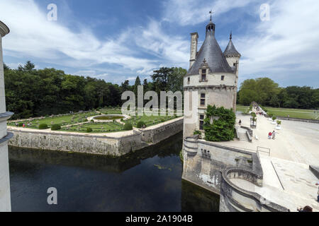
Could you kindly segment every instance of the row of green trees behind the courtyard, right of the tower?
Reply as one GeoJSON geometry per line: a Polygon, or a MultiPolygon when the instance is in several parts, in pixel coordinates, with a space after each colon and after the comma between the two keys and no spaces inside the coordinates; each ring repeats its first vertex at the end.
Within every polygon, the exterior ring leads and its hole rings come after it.
{"type": "Polygon", "coordinates": [[[250,105],[253,101],[268,107],[318,109],[319,88],[296,85],[281,88],[270,78],[247,79],[240,85],[237,103],[250,105]]]}

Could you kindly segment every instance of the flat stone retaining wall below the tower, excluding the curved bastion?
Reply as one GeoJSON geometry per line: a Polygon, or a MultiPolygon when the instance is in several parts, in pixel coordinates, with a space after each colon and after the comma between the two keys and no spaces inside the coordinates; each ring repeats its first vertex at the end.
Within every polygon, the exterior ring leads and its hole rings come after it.
{"type": "MultiPolygon", "coordinates": [[[[256,153],[186,138],[183,146],[182,178],[220,194],[221,172],[228,167],[252,169],[253,165],[260,165],[254,155],[256,153]]],[[[262,170],[261,167],[256,169],[262,170]]]]}

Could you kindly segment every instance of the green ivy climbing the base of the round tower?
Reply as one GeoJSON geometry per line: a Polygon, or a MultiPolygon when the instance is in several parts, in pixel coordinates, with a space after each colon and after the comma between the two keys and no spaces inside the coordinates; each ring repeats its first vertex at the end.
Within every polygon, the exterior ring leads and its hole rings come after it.
{"type": "Polygon", "coordinates": [[[235,113],[233,109],[208,105],[203,129],[206,141],[231,141],[235,138],[235,113]],[[211,123],[211,119],[213,119],[211,123]]]}

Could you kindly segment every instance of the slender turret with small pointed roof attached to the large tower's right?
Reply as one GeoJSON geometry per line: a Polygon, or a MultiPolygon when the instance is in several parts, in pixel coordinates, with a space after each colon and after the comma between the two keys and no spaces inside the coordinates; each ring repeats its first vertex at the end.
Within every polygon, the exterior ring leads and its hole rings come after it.
{"type": "Polygon", "coordinates": [[[228,61],[228,64],[233,67],[233,69],[235,69],[236,71],[236,89],[234,91],[234,95],[235,95],[235,102],[233,102],[233,109],[236,110],[236,99],[237,99],[237,87],[238,87],[238,69],[239,69],[239,60],[240,60],[240,53],[237,52],[233,41],[232,41],[232,32],[230,32],[230,37],[229,37],[229,42],[228,45],[224,51],[224,55],[228,61]]]}

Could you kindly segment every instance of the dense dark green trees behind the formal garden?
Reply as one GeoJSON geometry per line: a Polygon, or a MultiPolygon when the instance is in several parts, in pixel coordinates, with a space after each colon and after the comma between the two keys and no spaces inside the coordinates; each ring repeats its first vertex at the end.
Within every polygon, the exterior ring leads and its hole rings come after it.
{"type": "Polygon", "coordinates": [[[121,94],[126,90],[137,94],[138,85],[148,90],[182,90],[182,78],[186,74],[181,68],[160,68],[154,71],[152,81],[139,76],[134,85],[126,80],[121,85],[89,76],[74,76],[57,69],[35,69],[27,61],[18,69],[4,64],[6,109],[14,112],[12,119],[25,119],[50,114],[64,114],[101,107],[120,107],[125,100],[121,94]]]}

